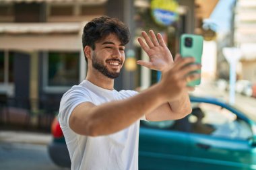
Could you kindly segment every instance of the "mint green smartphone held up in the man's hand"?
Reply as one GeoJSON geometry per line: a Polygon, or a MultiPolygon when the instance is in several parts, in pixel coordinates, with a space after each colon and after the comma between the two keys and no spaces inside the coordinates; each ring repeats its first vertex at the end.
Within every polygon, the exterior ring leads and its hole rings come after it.
{"type": "MultiPolygon", "coordinates": [[[[181,57],[192,56],[195,58],[195,63],[201,64],[201,56],[203,53],[203,37],[195,34],[182,34],[180,40],[180,53],[181,57]]],[[[195,72],[201,74],[201,70],[195,72]]],[[[189,83],[187,83],[187,85],[195,87],[200,83],[201,79],[197,79],[195,81],[190,81],[189,83]]]]}

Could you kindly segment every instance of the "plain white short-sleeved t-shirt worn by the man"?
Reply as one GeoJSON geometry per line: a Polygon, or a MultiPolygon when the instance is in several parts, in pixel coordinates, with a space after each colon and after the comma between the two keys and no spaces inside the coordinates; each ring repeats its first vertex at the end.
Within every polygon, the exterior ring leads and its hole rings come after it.
{"type": "MultiPolygon", "coordinates": [[[[63,95],[59,122],[69,150],[72,170],[138,169],[139,120],[124,130],[106,136],[83,136],[69,128],[69,116],[79,103],[90,101],[100,105],[136,93],[102,89],[85,80],[63,95]]],[[[145,120],[145,116],[142,119],[145,120]]]]}

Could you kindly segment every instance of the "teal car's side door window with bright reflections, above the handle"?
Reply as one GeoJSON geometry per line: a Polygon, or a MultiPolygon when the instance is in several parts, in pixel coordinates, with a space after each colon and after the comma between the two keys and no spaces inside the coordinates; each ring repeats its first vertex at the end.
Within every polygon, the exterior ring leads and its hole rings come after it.
{"type": "Polygon", "coordinates": [[[189,115],[191,132],[247,140],[253,136],[245,120],[220,105],[198,103],[189,115]]]}

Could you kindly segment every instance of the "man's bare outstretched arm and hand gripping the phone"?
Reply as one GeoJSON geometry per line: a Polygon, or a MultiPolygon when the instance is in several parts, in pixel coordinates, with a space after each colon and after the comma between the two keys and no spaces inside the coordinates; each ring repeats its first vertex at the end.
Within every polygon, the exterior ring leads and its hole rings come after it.
{"type": "Polygon", "coordinates": [[[194,58],[183,58],[166,71],[160,83],[128,99],[112,101],[102,105],[81,103],[69,118],[70,128],[87,136],[112,134],[127,128],[143,115],[148,115],[163,103],[177,101],[187,90],[185,75],[197,70],[194,58]]]}

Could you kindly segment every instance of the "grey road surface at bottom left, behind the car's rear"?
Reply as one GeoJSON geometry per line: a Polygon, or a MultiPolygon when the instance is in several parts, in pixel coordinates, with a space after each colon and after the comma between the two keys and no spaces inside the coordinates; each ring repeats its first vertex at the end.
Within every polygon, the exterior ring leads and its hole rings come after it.
{"type": "Polygon", "coordinates": [[[46,145],[0,142],[0,169],[61,170],[49,158],[46,145]]]}

